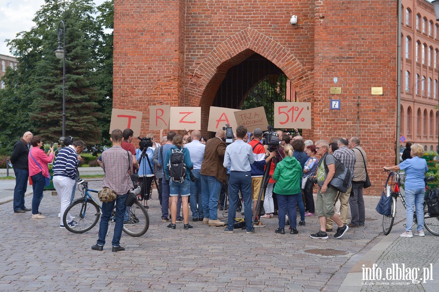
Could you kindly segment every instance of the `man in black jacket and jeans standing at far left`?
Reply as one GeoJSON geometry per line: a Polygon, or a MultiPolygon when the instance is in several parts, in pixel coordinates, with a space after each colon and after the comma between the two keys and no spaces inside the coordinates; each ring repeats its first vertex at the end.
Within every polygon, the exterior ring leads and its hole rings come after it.
{"type": "Polygon", "coordinates": [[[14,213],[24,213],[32,209],[24,207],[24,193],[27,190],[29,179],[29,141],[34,135],[31,132],[24,133],[23,137],[14,145],[14,151],[9,158],[15,173],[14,189],[14,213]]]}

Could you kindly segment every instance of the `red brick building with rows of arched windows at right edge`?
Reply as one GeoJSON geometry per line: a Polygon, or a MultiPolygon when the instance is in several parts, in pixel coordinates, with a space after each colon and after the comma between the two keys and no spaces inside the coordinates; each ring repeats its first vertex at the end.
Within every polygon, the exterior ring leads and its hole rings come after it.
{"type": "Polygon", "coordinates": [[[401,127],[407,141],[438,150],[439,23],[426,0],[402,0],[401,127]]]}

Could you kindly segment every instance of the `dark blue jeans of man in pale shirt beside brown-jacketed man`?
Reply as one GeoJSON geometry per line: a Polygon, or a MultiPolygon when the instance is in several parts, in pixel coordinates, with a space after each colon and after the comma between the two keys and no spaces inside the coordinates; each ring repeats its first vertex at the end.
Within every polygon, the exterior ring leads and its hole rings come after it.
{"type": "MultiPolygon", "coordinates": [[[[250,172],[231,172],[229,177],[229,214],[227,216],[227,229],[233,230],[235,227],[236,204],[239,198],[239,190],[241,191],[244,201],[244,220],[245,229],[252,230],[252,176],[250,172]]],[[[285,218],[285,216],[284,216],[285,218]]]]}

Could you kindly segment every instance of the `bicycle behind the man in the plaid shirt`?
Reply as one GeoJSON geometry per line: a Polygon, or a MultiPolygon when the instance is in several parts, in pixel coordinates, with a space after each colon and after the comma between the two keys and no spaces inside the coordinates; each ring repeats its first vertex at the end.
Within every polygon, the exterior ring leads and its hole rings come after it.
{"type": "MultiPolygon", "coordinates": [[[[62,217],[65,228],[72,233],[84,233],[89,231],[98,223],[100,215],[102,214],[100,203],[89,193],[99,193],[99,191],[89,189],[88,182],[82,179],[78,182],[78,189],[80,190],[81,198],[74,200],[72,204],[67,207],[62,217]],[[69,212],[72,216],[76,217],[75,221],[77,224],[75,226],[69,226],[67,224],[67,214],[69,212]]],[[[113,209],[108,231],[115,220],[116,210],[113,209]]],[[[125,212],[122,230],[130,236],[139,237],[145,234],[148,228],[148,212],[139,201],[135,201],[134,205],[127,208],[125,212]]]]}

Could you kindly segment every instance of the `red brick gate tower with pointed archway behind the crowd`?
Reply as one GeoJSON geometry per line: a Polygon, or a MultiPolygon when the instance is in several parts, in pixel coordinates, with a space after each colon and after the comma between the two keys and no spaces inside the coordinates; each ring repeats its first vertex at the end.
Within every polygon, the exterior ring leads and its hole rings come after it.
{"type": "Polygon", "coordinates": [[[205,131],[227,70],[258,53],[285,73],[299,101],[313,104],[313,128],[304,136],[359,136],[380,186],[379,169],[394,163],[396,1],[115,0],[114,6],[113,106],[142,110],[142,134],[155,104],[201,106],[205,131]],[[341,94],[330,87],[341,87],[341,94]],[[371,87],[383,94],[371,95],[371,87]],[[340,99],[341,110],[331,110],[330,99],[340,99]]]}

